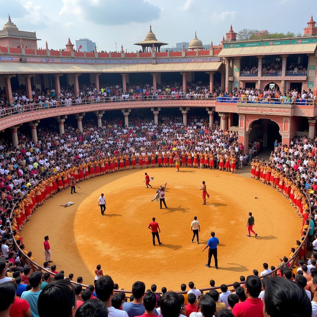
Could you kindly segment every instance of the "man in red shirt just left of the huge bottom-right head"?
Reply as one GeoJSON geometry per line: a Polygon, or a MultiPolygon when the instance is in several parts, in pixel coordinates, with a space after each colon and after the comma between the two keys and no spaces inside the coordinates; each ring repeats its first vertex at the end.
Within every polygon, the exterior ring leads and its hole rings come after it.
{"type": "Polygon", "coordinates": [[[259,298],[261,289],[261,280],[255,275],[249,275],[244,289],[247,299],[233,307],[232,313],[235,317],[263,317],[263,302],[259,298]]]}

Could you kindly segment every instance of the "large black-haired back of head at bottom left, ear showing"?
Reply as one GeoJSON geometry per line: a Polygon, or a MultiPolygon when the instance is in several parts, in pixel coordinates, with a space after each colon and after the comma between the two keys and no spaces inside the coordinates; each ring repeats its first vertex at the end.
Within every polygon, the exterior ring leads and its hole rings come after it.
{"type": "Polygon", "coordinates": [[[65,279],[46,285],[39,295],[37,308],[39,317],[74,317],[77,305],[71,282],[65,279]]]}

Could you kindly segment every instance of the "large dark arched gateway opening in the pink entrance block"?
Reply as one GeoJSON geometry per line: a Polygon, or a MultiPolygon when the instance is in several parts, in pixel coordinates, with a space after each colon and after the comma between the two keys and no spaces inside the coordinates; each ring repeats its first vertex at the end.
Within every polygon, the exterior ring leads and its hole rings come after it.
{"type": "Polygon", "coordinates": [[[274,142],[277,139],[278,142],[282,141],[280,134],[280,126],[270,119],[258,119],[253,121],[249,126],[249,143],[254,140],[259,140],[261,148],[272,149],[274,142]]]}

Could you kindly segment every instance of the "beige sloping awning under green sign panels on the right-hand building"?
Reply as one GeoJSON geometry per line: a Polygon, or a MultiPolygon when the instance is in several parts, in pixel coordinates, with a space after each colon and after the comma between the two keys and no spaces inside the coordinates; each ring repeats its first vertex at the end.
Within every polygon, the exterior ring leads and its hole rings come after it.
{"type": "Polygon", "coordinates": [[[249,55],[280,55],[280,54],[312,54],[316,50],[316,43],[265,45],[255,47],[237,47],[222,49],[218,56],[249,56],[249,55]]]}

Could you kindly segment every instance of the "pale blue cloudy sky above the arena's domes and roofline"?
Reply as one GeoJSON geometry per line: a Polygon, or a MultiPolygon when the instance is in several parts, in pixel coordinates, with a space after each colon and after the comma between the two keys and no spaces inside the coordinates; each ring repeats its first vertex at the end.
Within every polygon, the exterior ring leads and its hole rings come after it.
{"type": "MultiPolygon", "coordinates": [[[[11,20],[23,31],[36,31],[38,47],[65,48],[71,41],[90,38],[98,50],[117,50],[121,44],[136,51],[135,42],[142,41],[152,23],[159,41],[189,42],[197,37],[208,44],[219,44],[232,23],[237,32],[243,28],[270,32],[303,32],[309,14],[298,15],[298,1],[267,0],[0,0],[2,25],[11,20]],[[250,8],[251,5],[251,8],[250,8]],[[271,8],[269,10],[268,8],[271,8]]],[[[300,10],[300,9],[299,9],[300,10]]],[[[312,12],[316,15],[317,10],[312,12]]]]}

